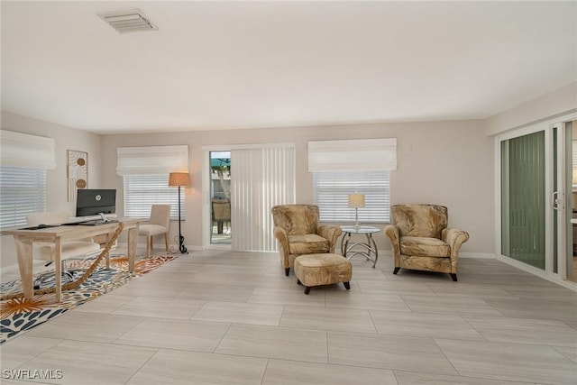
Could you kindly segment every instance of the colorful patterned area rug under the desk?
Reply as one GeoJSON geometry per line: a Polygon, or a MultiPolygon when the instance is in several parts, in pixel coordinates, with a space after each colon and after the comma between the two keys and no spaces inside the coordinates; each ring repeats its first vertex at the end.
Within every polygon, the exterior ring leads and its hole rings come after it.
{"type": "MultiPolygon", "coordinates": [[[[74,307],[87,303],[94,298],[100,297],[124,283],[137,279],[143,274],[154,270],[176,256],[151,256],[149,258],[137,258],[134,261],[134,272],[128,272],[128,257],[111,257],[110,269],[105,268],[105,261],[88,277],[77,289],[62,291],[61,302],[54,302],[54,294],[36,295],[31,299],[13,298],[0,301],[0,344],[4,344],[10,338],[43,324],[52,318],[61,316],[74,307]]],[[[94,260],[77,261],[68,264],[68,270],[74,275],[73,280],[78,280],[84,270],[87,270],[94,260]]],[[[53,286],[53,282],[47,280],[44,285],[53,286]]],[[[64,283],[64,282],[63,282],[64,283]]],[[[41,289],[43,287],[41,286],[41,289]]],[[[14,280],[0,284],[0,297],[9,296],[22,292],[22,281],[14,280]]]]}

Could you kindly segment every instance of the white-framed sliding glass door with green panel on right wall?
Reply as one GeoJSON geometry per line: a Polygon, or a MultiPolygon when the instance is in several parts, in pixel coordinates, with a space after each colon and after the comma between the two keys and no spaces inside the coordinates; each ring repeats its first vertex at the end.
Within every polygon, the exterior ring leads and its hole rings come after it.
{"type": "Polygon", "coordinates": [[[498,147],[500,256],[562,279],[571,219],[567,129],[563,123],[527,128],[499,138],[498,147]]]}

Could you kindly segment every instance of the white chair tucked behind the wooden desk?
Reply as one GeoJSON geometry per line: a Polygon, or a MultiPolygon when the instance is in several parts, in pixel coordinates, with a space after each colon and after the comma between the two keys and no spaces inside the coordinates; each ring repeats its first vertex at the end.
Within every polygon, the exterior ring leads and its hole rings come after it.
{"type": "MultiPolygon", "coordinates": [[[[44,213],[33,213],[26,215],[26,222],[30,226],[37,225],[61,225],[67,223],[70,216],[66,212],[52,211],[44,213]]],[[[54,243],[32,243],[32,258],[49,261],[46,264],[48,266],[54,261],[54,243]]],[[[92,238],[87,238],[78,241],[65,241],[61,244],[60,261],[62,263],[62,275],[68,277],[69,280],[73,279],[73,276],[69,271],[66,270],[66,261],[70,259],[86,259],[88,257],[96,255],[100,252],[100,244],[92,240],[92,238]]],[[[44,281],[46,277],[41,277],[39,280],[44,281]]]]}

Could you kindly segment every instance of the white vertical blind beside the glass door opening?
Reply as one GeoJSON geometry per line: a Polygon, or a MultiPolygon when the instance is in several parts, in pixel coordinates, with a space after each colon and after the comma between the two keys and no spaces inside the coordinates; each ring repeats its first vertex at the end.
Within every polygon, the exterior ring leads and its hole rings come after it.
{"type": "Polygon", "coordinates": [[[270,209],[295,203],[293,145],[231,151],[231,220],[235,251],[277,250],[270,209]]]}

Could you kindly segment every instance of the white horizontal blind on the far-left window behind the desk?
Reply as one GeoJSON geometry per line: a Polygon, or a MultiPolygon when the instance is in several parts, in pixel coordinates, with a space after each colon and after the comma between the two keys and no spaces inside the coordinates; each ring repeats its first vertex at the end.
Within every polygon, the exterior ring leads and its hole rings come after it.
{"type": "Polygon", "coordinates": [[[0,227],[26,225],[26,215],[46,211],[46,170],[0,167],[0,227]]]}

